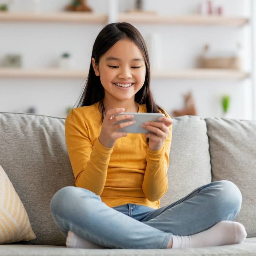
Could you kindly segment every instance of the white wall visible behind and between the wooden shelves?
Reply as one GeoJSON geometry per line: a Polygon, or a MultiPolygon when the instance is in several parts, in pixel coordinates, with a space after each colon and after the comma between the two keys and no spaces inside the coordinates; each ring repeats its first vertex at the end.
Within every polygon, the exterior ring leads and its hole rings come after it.
{"type": "MultiPolygon", "coordinates": [[[[0,0],[3,2],[3,0],[0,0]]],[[[11,11],[29,11],[30,0],[14,1],[11,11]]],[[[69,0],[41,1],[43,12],[60,11],[69,0]]],[[[199,0],[144,1],[146,10],[161,14],[193,14],[199,0]]],[[[88,0],[95,12],[106,12],[108,1],[88,0]]],[[[133,7],[133,1],[119,1],[119,10],[133,7]]],[[[225,9],[227,16],[248,16],[249,0],[215,1],[225,9]]],[[[243,48],[244,69],[251,71],[250,26],[171,26],[133,24],[146,38],[157,32],[163,44],[163,69],[193,68],[203,45],[213,49],[234,48],[240,41],[243,48]]],[[[0,62],[7,53],[20,53],[23,67],[54,67],[60,54],[71,52],[75,68],[89,68],[94,39],[104,25],[79,23],[1,22],[0,62]]],[[[65,108],[78,99],[85,79],[0,79],[0,111],[25,112],[35,106],[38,114],[65,117],[65,108]]],[[[182,94],[192,90],[197,114],[201,117],[221,116],[220,97],[231,95],[230,117],[252,119],[251,79],[245,80],[182,80],[152,79],[152,90],[157,103],[169,113],[183,107],[182,94]]]]}

